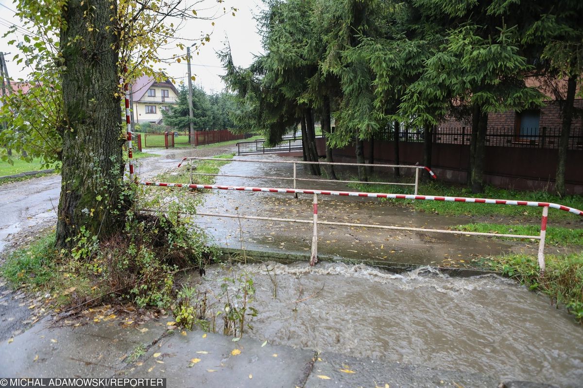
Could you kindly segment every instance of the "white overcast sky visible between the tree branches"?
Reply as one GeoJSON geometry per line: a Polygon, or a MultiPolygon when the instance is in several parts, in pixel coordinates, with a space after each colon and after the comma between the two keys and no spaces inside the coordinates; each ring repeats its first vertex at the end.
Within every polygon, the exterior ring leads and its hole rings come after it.
{"type": "MultiPolygon", "coordinates": [[[[185,0],[189,1],[189,0],[185,0]]],[[[208,0],[208,6],[215,6],[215,0],[208,0]]],[[[254,55],[261,54],[261,44],[259,42],[259,35],[257,34],[256,22],[253,18],[261,9],[261,0],[227,0],[224,2],[227,7],[234,6],[238,9],[236,16],[227,13],[226,16],[215,20],[215,27],[212,27],[209,21],[189,20],[185,26],[178,33],[178,41],[180,37],[196,37],[200,35],[201,31],[210,32],[210,42],[205,45],[200,51],[200,55],[193,53],[192,57],[192,73],[196,76],[195,84],[202,86],[207,92],[222,91],[224,84],[219,78],[223,74],[223,69],[220,66],[219,59],[215,51],[219,51],[224,47],[226,38],[231,45],[233,53],[233,60],[236,65],[248,66],[254,55]]],[[[22,69],[22,66],[16,65],[12,62],[13,55],[16,54],[16,48],[9,46],[8,41],[14,38],[22,39],[24,31],[16,35],[16,37],[2,38],[2,35],[8,30],[9,26],[16,24],[22,26],[20,20],[14,15],[15,5],[12,0],[0,0],[0,51],[10,52],[6,55],[6,65],[8,66],[8,73],[12,79],[23,78],[27,79],[27,70],[22,69]]],[[[183,41],[185,45],[192,44],[187,40],[183,41]]],[[[180,54],[180,49],[175,47],[165,49],[160,52],[163,58],[169,58],[180,54]]],[[[161,64],[160,67],[166,67],[166,73],[175,77],[177,85],[180,81],[187,80],[187,64],[185,62],[172,63],[171,65],[161,64]]]]}

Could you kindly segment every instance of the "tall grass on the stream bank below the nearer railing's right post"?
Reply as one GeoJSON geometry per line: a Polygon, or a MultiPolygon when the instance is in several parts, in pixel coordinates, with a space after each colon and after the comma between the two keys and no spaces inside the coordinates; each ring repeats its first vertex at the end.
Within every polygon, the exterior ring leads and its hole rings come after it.
{"type": "Polygon", "coordinates": [[[529,289],[548,295],[552,302],[564,305],[579,323],[583,323],[583,252],[569,255],[545,255],[544,276],[539,273],[535,256],[510,254],[487,258],[484,264],[517,279],[529,289]]]}

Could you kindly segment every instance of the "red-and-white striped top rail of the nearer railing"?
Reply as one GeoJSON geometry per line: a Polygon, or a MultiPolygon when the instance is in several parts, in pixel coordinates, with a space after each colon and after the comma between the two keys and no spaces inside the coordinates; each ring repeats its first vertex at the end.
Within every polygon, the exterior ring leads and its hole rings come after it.
{"type": "Polygon", "coordinates": [[[397,200],[426,200],[426,201],[449,201],[449,202],[476,202],[480,204],[496,205],[518,205],[532,207],[549,207],[583,216],[583,211],[570,208],[568,206],[553,204],[550,202],[496,200],[490,198],[469,198],[469,197],[439,197],[436,195],[412,195],[412,194],[383,194],[383,193],[359,193],[357,191],[326,191],[326,190],[304,190],[300,188],[273,188],[273,187],[247,187],[247,186],[216,186],[209,184],[182,184],[163,182],[140,182],[145,186],[161,187],[182,187],[182,188],[203,188],[215,190],[235,190],[235,191],[263,191],[265,193],[290,193],[290,194],[318,194],[318,195],[340,195],[348,197],[368,197],[368,198],[391,198],[397,200]]]}

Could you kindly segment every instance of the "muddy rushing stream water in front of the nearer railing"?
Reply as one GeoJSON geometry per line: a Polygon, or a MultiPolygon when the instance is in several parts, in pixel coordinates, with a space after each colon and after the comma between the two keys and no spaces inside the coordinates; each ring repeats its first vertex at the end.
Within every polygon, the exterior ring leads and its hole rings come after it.
{"type": "MultiPolygon", "coordinates": [[[[207,277],[242,271],[254,279],[252,306],[259,311],[247,335],[260,340],[501,380],[583,386],[583,328],[511,280],[448,277],[429,268],[395,275],[325,262],[315,268],[215,266],[207,277]]],[[[212,280],[199,286],[218,287],[212,280]]]]}

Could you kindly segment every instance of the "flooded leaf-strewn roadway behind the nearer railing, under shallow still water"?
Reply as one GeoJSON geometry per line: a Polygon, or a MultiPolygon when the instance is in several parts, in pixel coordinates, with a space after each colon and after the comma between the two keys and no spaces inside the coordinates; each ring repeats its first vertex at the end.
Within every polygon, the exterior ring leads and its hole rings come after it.
{"type": "MultiPolygon", "coordinates": [[[[238,156],[236,159],[290,160],[278,155],[238,156]]],[[[293,160],[293,159],[292,159],[293,160]]],[[[223,175],[293,176],[293,166],[285,163],[237,163],[224,165],[223,175]]],[[[298,165],[298,177],[311,177],[298,165]]],[[[311,177],[313,178],[313,177],[311,177]]],[[[225,186],[292,187],[293,181],[265,178],[217,177],[216,184],[225,186]]],[[[298,181],[298,188],[324,190],[351,190],[336,181],[298,181]]],[[[215,190],[205,191],[199,212],[230,215],[266,216],[287,219],[312,219],[312,196],[300,194],[258,193],[215,190]]],[[[423,193],[421,193],[423,194],[423,193]]],[[[375,198],[318,196],[318,219],[333,222],[366,223],[447,229],[465,224],[467,218],[444,217],[431,213],[415,212],[375,198]]],[[[290,252],[305,254],[310,250],[311,225],[233,218],[199,218],[215,241],[222,247],[290,252]],[[241,230],[240,230],[241,229],[241,230]]],[[[501,240],[480,239],[470,236],[401,232],[355,226],[318,226],[319,254],[358,259],[360,261],[390,261],[417,265],[459,266],[470,265],[473,258],[497,255],[512,250],[513,245],[501,240]]],[[[525,247],[524,244],[521,245],[525,247]]]]}

